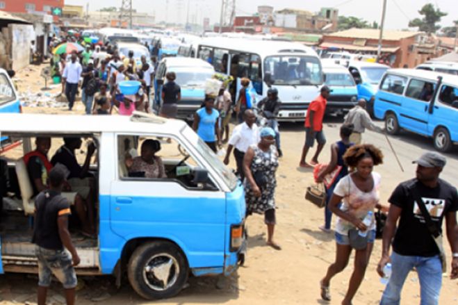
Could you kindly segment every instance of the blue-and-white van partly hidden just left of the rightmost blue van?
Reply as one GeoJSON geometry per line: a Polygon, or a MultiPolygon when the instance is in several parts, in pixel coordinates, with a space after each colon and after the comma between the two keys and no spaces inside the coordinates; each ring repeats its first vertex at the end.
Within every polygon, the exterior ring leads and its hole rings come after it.
{"type": "Polygon", "coordinates": [[[358,99],[366,99],[367,110],[373,115],[375,94],[377,93],[382,76],[390,67],[379,63],[352,60],[348,63],[348,70],[357,83],[358,99]]]}

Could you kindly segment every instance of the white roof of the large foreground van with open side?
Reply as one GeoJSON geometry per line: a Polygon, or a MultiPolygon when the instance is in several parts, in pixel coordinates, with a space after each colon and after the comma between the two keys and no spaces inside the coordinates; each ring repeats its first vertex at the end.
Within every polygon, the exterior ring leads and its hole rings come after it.
{"type": "Polygon", "coordinates": [[[179,119],[133,113],[124,115],[42,115],[0,113],[1,133],[164,133],[176,134],[186,126],[179,119]]]}

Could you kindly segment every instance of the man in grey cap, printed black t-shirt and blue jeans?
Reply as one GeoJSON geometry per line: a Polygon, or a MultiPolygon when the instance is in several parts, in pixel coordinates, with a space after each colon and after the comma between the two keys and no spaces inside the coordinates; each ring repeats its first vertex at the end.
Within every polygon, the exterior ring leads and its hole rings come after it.
{"type": "Polygon", "coordinates": [[[383,277],[384,266],[391,261],[392,273],[381,305],[400,303],[402,285],[414,267],[420,280],[421,304],[439,304],[442,286],[439,247],[427,228],[416,197],[423,199],[425,208],[439,231],[445,217],[447,237],[452,249],[450,279],[458,278],[458,194],[457,189],[450,183],[439,179],[446,163],[445,157],[436,152],[427,152],[414,163],[417,163],[416,179],[401,183],[389,199],[391,206],[384,229],[382,258],[377,266],[377,272],[383,277]],[[390,258],[392,240],[393,253],[390,258]]]}

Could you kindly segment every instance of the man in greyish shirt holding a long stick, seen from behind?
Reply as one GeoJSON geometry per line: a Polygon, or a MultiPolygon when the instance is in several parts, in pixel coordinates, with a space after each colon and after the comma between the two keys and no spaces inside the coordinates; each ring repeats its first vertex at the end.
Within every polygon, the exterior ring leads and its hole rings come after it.
{"type": "Polygon", "coordinates": [[[383,132],[379,126],[375,125],[370,115],[366,111],[366,99],[359,99],[357,106],[354,106],[345,116],[344,124],[353,124],[354,130],[350,135],[350,142],[356,145],[361,144],[362,135],[366,128],[371,131],[383,132]]]}

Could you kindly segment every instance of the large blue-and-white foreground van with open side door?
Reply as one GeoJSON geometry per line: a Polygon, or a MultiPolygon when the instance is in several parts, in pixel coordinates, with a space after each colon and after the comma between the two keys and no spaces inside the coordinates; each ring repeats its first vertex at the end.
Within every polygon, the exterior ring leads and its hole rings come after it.
{"type": "MultiPolygon", "coordinates": [[[[50,151],[65,136],[95,142],[90,173],[98,190],[97,239],[74,238],[77,274],[111,274],[118,286],[126,276],[138,295],[158,299],[177,295],[190,274],[229,275],[243,262],[243,186],[185,122],[145,113],[0,114],[0,134],[22,138],[24,154],[37,136],[51,138],[50,151]],[[129,171],[128,161],[140,158],[145,140],[161,142],[161,178],[129,171]]],[[[3,197],[0,274],[36,273],[31,180],[24,158],[2,156],[11,174],[3,197]]]]}

